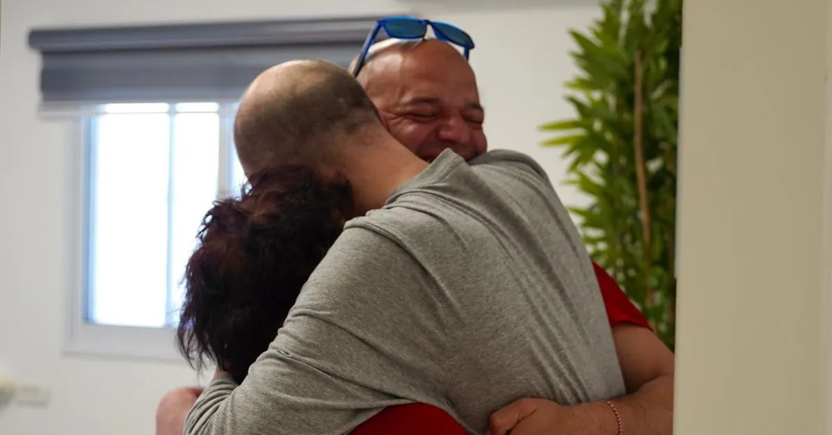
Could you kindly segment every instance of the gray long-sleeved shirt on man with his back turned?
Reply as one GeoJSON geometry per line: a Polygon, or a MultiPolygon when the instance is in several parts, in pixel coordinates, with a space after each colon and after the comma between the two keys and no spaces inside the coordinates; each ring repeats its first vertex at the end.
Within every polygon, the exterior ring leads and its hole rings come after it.
{"type": "Polygon", "coordinates": [[[592,264],[540,166],[445,151],[349,221],[245,381],[211,383],[186,433],[336,435],[411,402],[483,433],[517,398],[624,392],[592,264]]]}

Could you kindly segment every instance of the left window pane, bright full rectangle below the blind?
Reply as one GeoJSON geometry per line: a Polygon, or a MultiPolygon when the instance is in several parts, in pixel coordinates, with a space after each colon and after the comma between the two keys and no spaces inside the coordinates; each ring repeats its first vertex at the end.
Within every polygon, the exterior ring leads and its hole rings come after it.
{"type": "Polygon", "coordinates": [[[91,137],[87,314],[97,324],[156,327],[167,299],[169,117],[117,106],[91,137]]]}

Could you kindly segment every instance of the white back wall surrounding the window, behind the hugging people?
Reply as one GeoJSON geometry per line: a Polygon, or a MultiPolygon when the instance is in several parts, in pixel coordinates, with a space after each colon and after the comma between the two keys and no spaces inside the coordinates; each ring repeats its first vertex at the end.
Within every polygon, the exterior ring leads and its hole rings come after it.
{"type": "MultiPolygon", "coordinates": [[[[544,150],[536,126],[570,114],[562,82],[574,68],[567,27],[597,15],[592,0],[3,0],[0,24],[0,371],[52,386],[47,408],[0,411],[0,433],[146,435],[156,401],[193,383],[184,364],[62,356],[72,174],[67,126],[37,117],[39,59],[32,27],[270,19],[285,16],[416,11],[473,34],[472,62],[488,109],[493,147],[535,156],[562,179],[559,151],[544,150]],[[323,12],[321,12],[323,11],[323,12]],[[11,428],[11,429],[10,429],[11,428]]],[[[563,189],[565,202],[581,198],[563,189]]],[[[141,270],[136,270],[141,273],[141,270]]]]}

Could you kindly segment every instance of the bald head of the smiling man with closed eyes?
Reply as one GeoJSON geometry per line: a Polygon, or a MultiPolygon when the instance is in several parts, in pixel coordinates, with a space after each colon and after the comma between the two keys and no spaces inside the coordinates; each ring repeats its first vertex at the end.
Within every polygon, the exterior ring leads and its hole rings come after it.
{"type": "Polygon", "coordinates": [[[364,62],[359,83],[390,134],[414,154],[433,161],[450,149],[468,160],[486,151],[477,77],[451,44],[387,39],[364,62]]]}

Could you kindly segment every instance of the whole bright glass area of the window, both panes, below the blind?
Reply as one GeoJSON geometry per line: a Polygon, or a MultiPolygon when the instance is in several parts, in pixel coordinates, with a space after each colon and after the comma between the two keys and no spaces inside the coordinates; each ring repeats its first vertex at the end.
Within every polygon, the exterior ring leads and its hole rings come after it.
{"type": "Polygon", "coordinates": [[[217,103],[110,104],[87,123],[85,320],[176,324],[202,217],[239,190],[217,103]]]}

